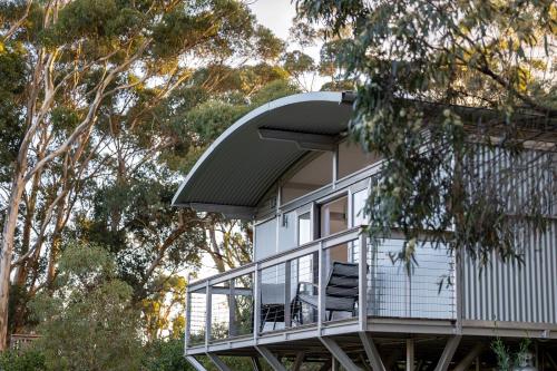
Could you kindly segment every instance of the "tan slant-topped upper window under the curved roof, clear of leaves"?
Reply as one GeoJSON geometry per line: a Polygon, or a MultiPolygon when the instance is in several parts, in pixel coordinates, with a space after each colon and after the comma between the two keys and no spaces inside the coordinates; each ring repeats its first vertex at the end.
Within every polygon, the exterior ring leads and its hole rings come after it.
{"type": "Polygon", "coordinates": [[[325,152],[305,164],[282,186],[282,203],[301,197],[332,182],[333,153],[325,152]]]}

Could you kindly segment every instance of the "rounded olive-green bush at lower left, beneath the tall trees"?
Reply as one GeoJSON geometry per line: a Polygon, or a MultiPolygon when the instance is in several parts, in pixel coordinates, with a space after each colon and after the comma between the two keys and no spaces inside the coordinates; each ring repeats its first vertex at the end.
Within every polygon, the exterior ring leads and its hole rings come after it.
{"type": "Polygon", "coordinates": [[[40,321],[36,345],[48,370],[138,369],[139,316],[130,307],[131,287],[115,275],[102,247],[66,247],[53,295],[38,295],[31,304],[40,321]]]}

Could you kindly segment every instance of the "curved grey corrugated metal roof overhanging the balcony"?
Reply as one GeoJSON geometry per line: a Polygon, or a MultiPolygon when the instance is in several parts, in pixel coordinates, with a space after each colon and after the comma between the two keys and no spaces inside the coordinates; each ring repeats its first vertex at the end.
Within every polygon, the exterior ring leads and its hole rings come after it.
{"type": "Polygon", "coordinates": [[[307,92],[252,110],[208,147],[182,183],[173,205],[228,215],[237,211],[245,216],[307,153],[304,138],[319,144],[346,130],[352,106],[342,102],[351,102],[349,94],[307,92]],[[266,135],[275,140],[262,138],[266,135]]]}

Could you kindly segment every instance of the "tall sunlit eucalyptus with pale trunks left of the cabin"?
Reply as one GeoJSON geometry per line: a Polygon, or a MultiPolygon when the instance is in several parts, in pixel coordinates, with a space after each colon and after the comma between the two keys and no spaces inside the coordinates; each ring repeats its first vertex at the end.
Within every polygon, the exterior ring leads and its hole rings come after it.
{"type": "MultiPolygon", "coordinates": [[[[134,184],[135,199],[144,201],[149,179],[168,173],[139,170],[139,165],[163,149],[168,154],[187,147],[176,131],[164,123],[158,126],[157,107],[193,79],[199,66],[262,55],[270,60],[280,48],[246,6],[234,0],[0,4],[0,349],[7,340],[12,269],[31,291],[51,286],[66,227],[76,231],[81,222],[88,224],[71,211],[76,205],[82,211],[97,195],[96,187],[107,187],[108,182],[99,180],[113,176],[107,169],[136,169],[136,179],[146,175],[143,184],[134,184]],[[149,127],[174,136],[152,135],[149,127]],[[125,153],[131,143],[139,154],[125,153]]],[[[124,178],[116,172],[116,183],[118,177],[124,178]]],[[[168,198],[168,184],[158,189],[168,198]]],[[[117,214],[110,215],[114,230],[121,222],[117,214]]],[[[185,227],[178,222],[179,228],[185,227]]],[[[167,231],[159,247],[176,237],[176,231],[167,231]]],[[[155,266],[158,253],[148,256],[155,266]]]]}

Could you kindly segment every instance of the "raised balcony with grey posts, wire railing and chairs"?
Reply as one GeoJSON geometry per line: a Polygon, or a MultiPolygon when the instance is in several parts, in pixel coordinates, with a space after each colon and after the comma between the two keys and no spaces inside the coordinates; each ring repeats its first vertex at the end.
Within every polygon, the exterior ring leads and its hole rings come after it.
{"type": "Polygon", "coordinates": [[[188,286],[186,353],[367,331],[378,320],[452,323],[455,256],[419,244],[409,275],[403,238],[379,246],[346,230],[188,286]],[[360,248],[365,246],[365,248],[360,248]]]}

